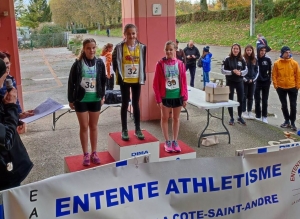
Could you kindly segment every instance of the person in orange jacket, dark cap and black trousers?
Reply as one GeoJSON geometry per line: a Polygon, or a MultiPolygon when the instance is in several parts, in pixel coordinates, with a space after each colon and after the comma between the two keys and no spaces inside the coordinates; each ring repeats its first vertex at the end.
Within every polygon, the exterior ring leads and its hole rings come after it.
{"type": "Polygon", "coordinates": [[[298,63],[292,58],[291,49],[288,46],[281,48],[281,55],[274,62],[272,80],[281,102],[281,110],[284,117],[284,123],[280,127],[291,128],[293,131],[297,131],[295,121],[298,89],[300,88],[300,68],[298,63]],[[289,96],[290,112],[287,106],[287,95],[289,96]]]}

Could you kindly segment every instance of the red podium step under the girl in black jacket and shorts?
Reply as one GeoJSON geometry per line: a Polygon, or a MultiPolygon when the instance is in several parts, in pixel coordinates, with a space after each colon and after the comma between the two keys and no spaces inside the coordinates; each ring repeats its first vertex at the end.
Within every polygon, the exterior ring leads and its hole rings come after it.
{"type": "Polygon", "coordinates": [[[65,157],[64,158],[65,173],[72,173],[80,170],[86,170],[89,168],[98,167],[98,166],[115,162],[115,159],[110,155],[108,151],[98,152],[97,154],[100,158],[101,163],[99,165],[96,165],[91,162],[90,166],[82,165],[83,154],[65,157]]]}

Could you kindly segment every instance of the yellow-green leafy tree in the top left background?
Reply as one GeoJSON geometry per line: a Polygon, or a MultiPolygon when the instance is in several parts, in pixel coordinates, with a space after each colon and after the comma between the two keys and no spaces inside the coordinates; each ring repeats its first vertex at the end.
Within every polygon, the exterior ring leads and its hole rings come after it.
{"type": "Polygon", "coordinates": [[[27,10],[20,17],[23,26],[36,28],[42,22],[51,21],[51,11],[47,0],[30,0],[27,10]]]}

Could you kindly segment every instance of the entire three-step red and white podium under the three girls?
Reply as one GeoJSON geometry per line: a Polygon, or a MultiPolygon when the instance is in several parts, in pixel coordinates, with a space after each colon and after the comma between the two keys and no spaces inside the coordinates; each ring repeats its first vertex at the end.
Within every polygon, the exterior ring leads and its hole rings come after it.
{"type": "Polygon", "coordinates": [[[68,156],[64,158],[65,173],[94,168],[140,155],[149,155],[149,162],[196,158],[196,151],[183,141],[178,141],[181,147],[180,153],[167,153],[164,149],[164,143],[160,143],[159,140],[148,131],[143,130],[142,132],[145,136],[144,140],[138,139],[134,135],[134,130],[128,131],[129,141],[123,141],[121,139],[121,132],[109,133],[108,150],[97,153],[101,161],[100,165],[91,163],[90,166],[83,166],[83,154],[68,156]]]}

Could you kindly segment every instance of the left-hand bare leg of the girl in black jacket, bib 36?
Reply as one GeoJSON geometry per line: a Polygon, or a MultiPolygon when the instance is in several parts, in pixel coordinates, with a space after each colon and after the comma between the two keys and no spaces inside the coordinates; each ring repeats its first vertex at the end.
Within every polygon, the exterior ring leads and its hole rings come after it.
{"type": "Polygon", "coordinates": [[[82,151],[84,154],[88,153],[88,112],[76,112],[79,121],[79,137],[82,151]]]}

